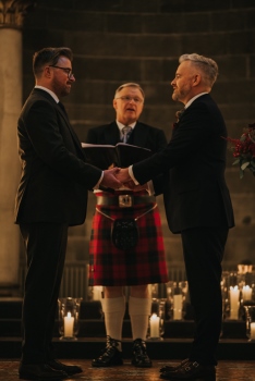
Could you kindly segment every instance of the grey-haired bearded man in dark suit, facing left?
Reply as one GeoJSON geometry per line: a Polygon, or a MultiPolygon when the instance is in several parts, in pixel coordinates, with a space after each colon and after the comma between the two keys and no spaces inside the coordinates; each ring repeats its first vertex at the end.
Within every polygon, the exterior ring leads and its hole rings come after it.
{"type": "Polygon", "coordinates": [[[117,176],[136,184],[155,179],[156,194],[163,193],[169,229],[182,238],[195,336],[189,358],[175,368],[162,368],[160,377],[215,380],[222,318],[221,260],[234,225],[224,181],[227,130],[209,95],[218,75],[216,62],[196,53],[183,54],[179,62],[172,98],[185,108],[172,138],[166,149],[117,176]]]}

